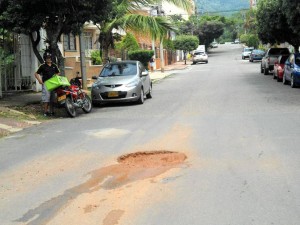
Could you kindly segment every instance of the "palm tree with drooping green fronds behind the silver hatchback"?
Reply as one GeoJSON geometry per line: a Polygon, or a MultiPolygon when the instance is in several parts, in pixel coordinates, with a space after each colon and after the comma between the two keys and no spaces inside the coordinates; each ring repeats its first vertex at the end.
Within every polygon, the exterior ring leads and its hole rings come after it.
{"type": "MultiPolygon", "coordinates": [[[[165,0],[181,7],[185,10],[191,9],[190,0],[165,0]]],[[[141,14],[141,10],[151,5],[161,4],[161,0],[114,0],[114,12],[106,21],[100,21],[100,45],[103,51],[103,62],[106,63],[109,55],[109,48],[114,47],[116,35],[113,29],[132,30],[149,34],[154,40],[162,39],[169,30],[175,30],[175,26],[162,16],[151,17],[150,15],[141,14]]]]}

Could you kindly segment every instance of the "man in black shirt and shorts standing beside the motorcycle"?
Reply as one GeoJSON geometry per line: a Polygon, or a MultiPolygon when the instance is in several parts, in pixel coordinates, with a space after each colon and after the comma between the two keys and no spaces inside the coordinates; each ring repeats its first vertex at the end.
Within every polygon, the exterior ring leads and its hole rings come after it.
{"type": "Polygon", "coordinates": [[[44,105],[44,116],[53,115],[54,92],[48,91],[45,81],[50,79],[54,74],[59,75],[59,69],[56,64],[52,63],[52,55],[49,52],[44,53],[45,63],[40,65],[34,76],[42,84],[42,102],[44,105]]]}

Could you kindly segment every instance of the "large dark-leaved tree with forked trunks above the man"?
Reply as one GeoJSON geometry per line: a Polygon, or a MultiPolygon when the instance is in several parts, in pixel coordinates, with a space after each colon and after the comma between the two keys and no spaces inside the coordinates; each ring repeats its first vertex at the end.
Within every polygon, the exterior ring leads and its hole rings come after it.
{"type": "Polygon", "coordinates": [[[79,34],[87,21],[103,20],[111,11],[110,0],[2,0],[0,2],[0,25],[9,31],[30,36],[33,51],[42,63],[37,50],[40,30],[47,32],[46,43],[56,55],[58,66],[64,71],[63,56],[57,42],[62,34],[79,34]]]}

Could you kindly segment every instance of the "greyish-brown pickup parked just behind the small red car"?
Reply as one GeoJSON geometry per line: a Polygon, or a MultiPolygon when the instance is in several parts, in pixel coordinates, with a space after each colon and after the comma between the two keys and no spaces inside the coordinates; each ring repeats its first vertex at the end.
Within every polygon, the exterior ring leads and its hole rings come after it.
{"type": "Polygon", "coordinates": [[[261,60],[260,72],[268,75],[270,71],[274,70],[274,63],[280,55],[289,55],[288,48],[269,48],[265,56],[261,60]]]}

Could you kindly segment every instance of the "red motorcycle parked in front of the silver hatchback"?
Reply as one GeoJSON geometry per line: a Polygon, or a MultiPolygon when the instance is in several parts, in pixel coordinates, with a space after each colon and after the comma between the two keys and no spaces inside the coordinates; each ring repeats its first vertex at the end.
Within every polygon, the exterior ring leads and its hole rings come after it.
{"type": "Polygon", "coordinates": [[[60,86],[55,89],[57,95],[57,103],[64,106],[70,117],[76,117],[77,108],[82,108],[85,113],[89,113],[92,110],[92,102],[90,97],[81,89],[81,85],[70,81],[70,86],[60,86]]]}

